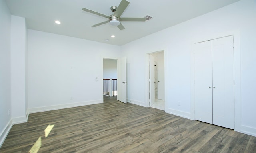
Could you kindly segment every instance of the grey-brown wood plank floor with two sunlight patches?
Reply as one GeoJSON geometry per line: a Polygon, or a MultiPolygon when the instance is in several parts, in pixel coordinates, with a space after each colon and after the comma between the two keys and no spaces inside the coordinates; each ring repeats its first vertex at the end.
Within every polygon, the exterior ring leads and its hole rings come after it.
{"type": "Polygon", "coordinates": [[[0,153],[256,153],[256,137],[104,97],[29,115],[0,153]]]}

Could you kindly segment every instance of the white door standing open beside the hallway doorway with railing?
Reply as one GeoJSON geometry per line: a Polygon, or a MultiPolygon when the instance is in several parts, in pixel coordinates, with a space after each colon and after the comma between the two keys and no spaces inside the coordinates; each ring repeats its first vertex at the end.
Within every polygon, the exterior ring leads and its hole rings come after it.
{"type": "Polygon", "coordinates": [[[117,100],[126,103],[126,57],[117,60],[117,100]]]}

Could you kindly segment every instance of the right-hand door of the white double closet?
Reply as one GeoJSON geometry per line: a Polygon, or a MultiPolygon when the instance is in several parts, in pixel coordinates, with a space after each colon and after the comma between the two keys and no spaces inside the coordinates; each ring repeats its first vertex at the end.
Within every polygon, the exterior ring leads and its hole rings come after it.
{"type": "Polygon", "coordinates": [[[234,129],[233,36],[212,40],[213,124],[234,129]]]}

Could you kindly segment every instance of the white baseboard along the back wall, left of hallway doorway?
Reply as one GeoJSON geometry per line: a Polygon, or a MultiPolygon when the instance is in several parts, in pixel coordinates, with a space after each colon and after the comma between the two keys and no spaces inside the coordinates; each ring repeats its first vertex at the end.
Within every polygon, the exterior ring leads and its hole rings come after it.
{"type": "Polygon", "coordinates": [[[37,108],[29,108],[29,113],[37,113],[37,112],[44,112],[49,110],[59,110],[63,108],[71,108],[71,107],[78,107],[78,106],[85,106],[85,105],[92,105],[92,104],[100,104],[103,100],[91,100],[85,102],[76,102],[70,104],[61,104],[61,105],[52,105],[52,106],[45,106],[45,107],[37,107],[37,108]]]}

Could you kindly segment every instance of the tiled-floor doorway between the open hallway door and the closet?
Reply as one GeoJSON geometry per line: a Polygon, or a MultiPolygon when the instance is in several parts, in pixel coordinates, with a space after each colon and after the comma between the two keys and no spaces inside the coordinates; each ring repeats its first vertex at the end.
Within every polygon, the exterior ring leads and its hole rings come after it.
{"type": "Polygon", "coordinates": [[[164,51],[149,54],[149,106],[165,110],[164,51]]]}

